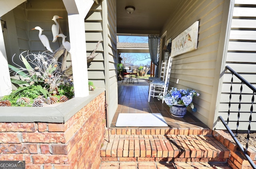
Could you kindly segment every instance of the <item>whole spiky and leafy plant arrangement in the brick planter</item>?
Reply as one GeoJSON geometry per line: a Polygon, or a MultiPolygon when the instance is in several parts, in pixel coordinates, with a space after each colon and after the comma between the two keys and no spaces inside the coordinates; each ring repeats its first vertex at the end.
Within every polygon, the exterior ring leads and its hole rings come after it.
{"type": "MultiPolygon", "coordinates": [[[[26,52],[26,51],[25,51],[26,52]]],[[[27,54],[19,55],[19,59],[24,64],[24,67],[16,64],[9,65],[9,68],[15,79],[11,79],[11,82],[17,84],[17,90],[13,90],[8,96],[4,96],[2,100],[9,100],[12,106],[30,106],[22,105],[17,100],[20,97],[26,97],[33,102],[34,98],[39,95],[43,95],[44,98],[48,96],[60,96],[65,95],[69,99],[74,96],[74,85],[72,82],[72,76],[64,75],[60,72],[61,64],[54,59],[52,55],[48,55],[43,52],[42,54],[27,54]],[[18,79],[17,79],[18,77],[18,79]]],[[[14,60],[14,57],[12,58],[14,60]]]]}

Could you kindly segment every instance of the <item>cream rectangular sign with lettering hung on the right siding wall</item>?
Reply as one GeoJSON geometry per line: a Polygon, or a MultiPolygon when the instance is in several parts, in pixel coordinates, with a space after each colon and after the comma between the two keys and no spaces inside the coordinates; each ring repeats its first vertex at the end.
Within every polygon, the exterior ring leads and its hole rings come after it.
{"type": "Polygon", "coordinates": [[[199,21],[172,40],[171,57],[197,49],[199,21]]]}

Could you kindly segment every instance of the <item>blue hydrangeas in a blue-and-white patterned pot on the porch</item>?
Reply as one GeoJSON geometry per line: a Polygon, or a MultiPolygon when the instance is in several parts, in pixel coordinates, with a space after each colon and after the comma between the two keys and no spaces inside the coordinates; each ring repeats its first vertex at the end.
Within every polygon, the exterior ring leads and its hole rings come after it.
{"type": "Polygon", "coordinates": [[[170,107],[170,113],[173,116],[183,117],[188,106],[192,108],[193,112],[196,112],[196,108],[192,103],[194,96],[199,96],[196,90],[172,87],[166,95],[158,95],[158,100],[164,99],[164,102],[170,107]]]}

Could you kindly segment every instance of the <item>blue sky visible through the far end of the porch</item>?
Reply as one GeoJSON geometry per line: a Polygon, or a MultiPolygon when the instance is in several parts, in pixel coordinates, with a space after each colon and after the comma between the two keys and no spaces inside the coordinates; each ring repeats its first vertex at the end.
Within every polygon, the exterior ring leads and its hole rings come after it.
{"type": "MultiPolygon", "coordinates": [[[[118,36],[119,42],[126,43],[148,43],[147,36],[118,36]]],[[[126,63],[133,63],[134,65],[144,66],[150,65],[149,53],[121,53],[121,57],[126,59],[126,63]]],[[[122,62],[123,62],[122,61],[122,62]]]]}

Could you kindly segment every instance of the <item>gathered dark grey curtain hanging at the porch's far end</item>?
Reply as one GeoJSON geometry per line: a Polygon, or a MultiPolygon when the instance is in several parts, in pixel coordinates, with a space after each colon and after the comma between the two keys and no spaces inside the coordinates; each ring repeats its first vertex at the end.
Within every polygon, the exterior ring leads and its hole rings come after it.
{"type": "Polygon", "coordinates": [[[156,73],[155,77],[158,77],[158,43],[159,43],[159,35],[148,35],[148,47],[150,59],[156,65],[156,73]]]}

